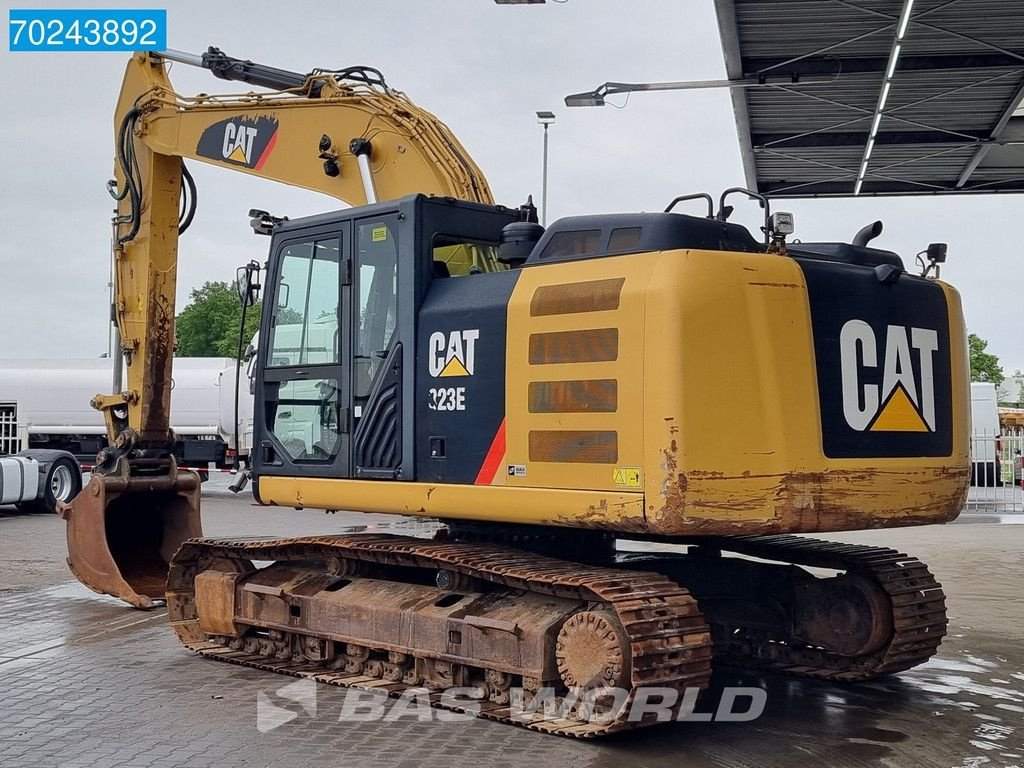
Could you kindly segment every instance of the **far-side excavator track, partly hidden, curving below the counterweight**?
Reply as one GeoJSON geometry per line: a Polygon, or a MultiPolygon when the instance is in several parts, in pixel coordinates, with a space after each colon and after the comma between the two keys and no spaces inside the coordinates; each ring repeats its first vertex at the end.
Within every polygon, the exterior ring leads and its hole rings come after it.
{"type": "Polygon", "coordinates": [[[946,634],[941,585],[923,562],[897,550],[796,536],[701,539],[700,544],[765,560],[858,574],[877,585],[891,606],[888,642],[862,656],[844,656],[820,647],[780,641],[770,632],[715,624],[712,620],[716,664],[855,682],[923,664],[935,653],[946,634]]]}

